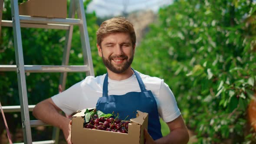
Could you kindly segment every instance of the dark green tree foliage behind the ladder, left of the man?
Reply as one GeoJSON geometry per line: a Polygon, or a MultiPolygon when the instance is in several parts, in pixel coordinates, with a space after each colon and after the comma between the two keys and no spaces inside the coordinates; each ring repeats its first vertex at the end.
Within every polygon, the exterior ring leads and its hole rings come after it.
{"type": "MultiPolygon", "coordinates": [[[[19,3],[23,0],[19,0],[19,3]]],[[[84,9],[91,0],[84,0],[84,9]]],[[[68,0],[67,8],[69,10],[68,0]]],[[[92,52],[95,75],[105,73],[102,59],[98,57],[96,48],[96,14],[86,13],[86,22],[92,52]]],[[[4,0],[3,20],[11,20],[10,0],[4,0]]],[[[21,28],[23,55],[25,65],[61,65],[66,30],[21,28]]],[[[2,27],[0,37],[0,65],[15,65],[12,27],[2,27]]],[[[69,65],[83,65],[79,27],[74,26],[72,36],[69,65]]],[[[26,84],[29,105],[36,105],[39,101],[58,93],[60,73],[29,73],[26,72],[26,84]]],[[[85,78],[84,72],[68,73],[66,88],[85,78]]],[[[0,101],[3,106],[20,105],[16,72],[0,72],[0,101]]],[[[14,133],[20,127],[20,113],[6,113],[11,115],[14,125],[9,124],[14,133]],[[18,115],[18,118],[16,118],[18,115]]],[[[33,116],[30,115],[33,119],[33,116]]],[[[11,120],[10,120],[11,121],[11,120]]],[[[36,133],[33,133],[36,135],[36,133]]],[[[46,133],[47,134],[47,133],[46,133]]],[[[51,134],[47,134],[51,137],[51,134]]],[[[43,137],[42,135],[40,135],[43,137]]],[[[15,142],[15,141],[14,141],[15,142]]]]}

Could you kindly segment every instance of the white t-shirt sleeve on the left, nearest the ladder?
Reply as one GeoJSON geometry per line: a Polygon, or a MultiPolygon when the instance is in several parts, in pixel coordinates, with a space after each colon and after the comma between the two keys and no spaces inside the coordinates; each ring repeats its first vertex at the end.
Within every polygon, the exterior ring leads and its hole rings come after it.
{"type": "Polygon", "coordinates": [[[81,98],[81,82],[72,85],[67,90],[54,95],[52,97],[53,102],[57,105],[66,115],[71,115],[76,112],[79,105],[79,99],[81,98]]]}

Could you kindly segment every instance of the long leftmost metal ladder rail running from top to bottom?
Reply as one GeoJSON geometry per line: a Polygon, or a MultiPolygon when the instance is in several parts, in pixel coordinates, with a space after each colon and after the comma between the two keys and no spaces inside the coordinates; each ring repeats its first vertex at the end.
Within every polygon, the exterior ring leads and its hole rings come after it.
{"type": "Polygon", "coordinates": [[[23,59],[23,48],[20,31],[18,0],[11,0],[11,11],[13,20],[13,37],[15,58],[17,65],[17,77],[20,97],[21,120],[23,130],[23,141],[25,144],[32,144],[31,128],[30,128],[30,115],[28,109],[28,99],[26,91],[26,78],[23,59]]]}

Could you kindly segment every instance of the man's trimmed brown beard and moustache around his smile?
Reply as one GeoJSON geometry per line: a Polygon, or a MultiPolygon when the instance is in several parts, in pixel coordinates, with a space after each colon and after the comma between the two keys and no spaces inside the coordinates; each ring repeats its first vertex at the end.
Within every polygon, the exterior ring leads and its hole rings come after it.
{"type": "Polygon", "coordinates": [[[133,61],[133,55],[131,56],[130,59],[128,59],[128,56],[126,55],[121,55],[121,56],[109,56],[108,59],[106,59],[104,56],[103,56],[103,53],[102,53],[102,60],[104,62],[104,65],[112,72],[114,73],[123,73],[125,72],[130,66],[131,66],[131,63],[133,61]],[[115,59],[115,58],[121,58],[121,59],[124,59],[125,63],[120,65],[120,66],[115,66],[112,64],[112,59],[115,59]]]}

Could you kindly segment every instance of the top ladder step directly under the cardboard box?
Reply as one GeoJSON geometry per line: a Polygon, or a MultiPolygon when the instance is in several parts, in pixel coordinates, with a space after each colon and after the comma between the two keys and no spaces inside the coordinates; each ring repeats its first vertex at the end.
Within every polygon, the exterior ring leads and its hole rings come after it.
{"type": "Polygon", "coordinates": [[[55,24],[69,24],[79,25],[82,24],[80,19],[59,19],[59,18],[46,18],[46,17],[33,17],[33,16],[20,16],[20,23],[55,23],[55,24]]]}

